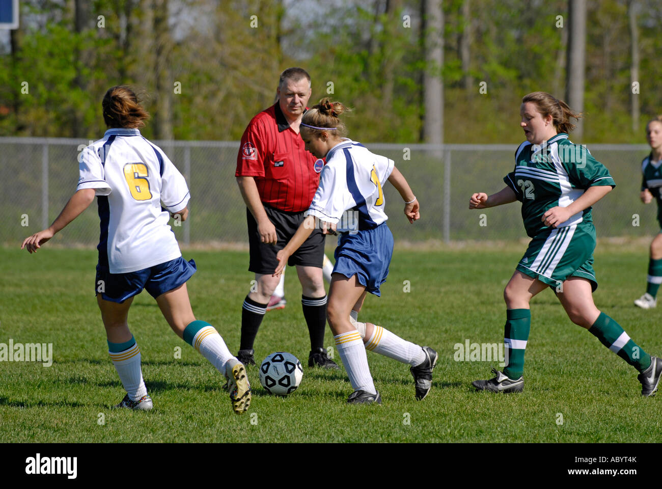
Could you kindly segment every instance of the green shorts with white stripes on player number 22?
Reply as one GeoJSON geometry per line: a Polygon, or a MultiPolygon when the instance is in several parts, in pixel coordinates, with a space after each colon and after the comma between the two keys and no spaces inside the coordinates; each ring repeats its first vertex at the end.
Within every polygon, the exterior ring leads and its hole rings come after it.
{"type": "Polygon", "coordinates": [[[569,277],[581,277],[598,288],[593,270],[595,228],[581,223],[552,229],[529,243],[516,270],[558,288],[569,277]]]}

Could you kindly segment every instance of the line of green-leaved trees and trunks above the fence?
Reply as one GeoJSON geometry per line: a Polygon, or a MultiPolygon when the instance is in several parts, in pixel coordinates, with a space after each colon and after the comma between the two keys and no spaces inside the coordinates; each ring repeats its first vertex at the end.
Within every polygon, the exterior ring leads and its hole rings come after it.
{"type": "Polygon", "coordinates": [[[579,142],[641,143],[661,28],[657,0],[22,0],[0,135],[98,138],[103,93],[129,83],[146,136],[236,140],[302,66],[367,142],[518,142],[544,90],[585,113],[579,142]]]}

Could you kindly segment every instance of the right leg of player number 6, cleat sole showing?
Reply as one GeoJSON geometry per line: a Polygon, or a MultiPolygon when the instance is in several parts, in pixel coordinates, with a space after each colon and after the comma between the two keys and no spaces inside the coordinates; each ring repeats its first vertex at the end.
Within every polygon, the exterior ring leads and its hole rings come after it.
{"type": "Polygon", "coordinates": [[[156,298],[161,312],[173,331],[228,378],[230,401],[236,413],[250,406],[250,384],[246,368],[228,350],[222,337],[211,324],[195,319],[186,284],[156,298]]]}

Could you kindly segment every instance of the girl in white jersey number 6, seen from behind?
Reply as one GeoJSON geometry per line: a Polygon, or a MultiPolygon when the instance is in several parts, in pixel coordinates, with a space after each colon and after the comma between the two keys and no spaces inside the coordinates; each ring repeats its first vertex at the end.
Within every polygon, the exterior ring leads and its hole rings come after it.
{"type": "Polygon", "coordinates": [[[140,135],[138,127],[149,115],[132,89],[110,88],[102,106],[109,129],[79,155],[75,193],[53,224],[26,238],[21,249],[36,252],[87,209],[96,195],[101,237],[95,292],[108,353],[126,390],[116,407],[152,409],[142,378],[140,349],[126,322],[134,296],[144,288],[177,336],[228,378],[234,411],[246,411],[251,398],[246,368],[230,354],[212,325],[195,319],[186,288],[196,271],[195,262],[181,257],[168,225],[170,215],[181,221],[187,218],[186,182],[166,154],[140,135]]]}

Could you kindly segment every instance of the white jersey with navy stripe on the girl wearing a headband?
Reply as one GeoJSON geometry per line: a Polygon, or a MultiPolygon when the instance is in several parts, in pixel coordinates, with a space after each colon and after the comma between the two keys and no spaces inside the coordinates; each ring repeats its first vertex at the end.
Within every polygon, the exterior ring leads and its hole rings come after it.
{"type": "Polygon", "coordinates": [[[382,182],[391,176],[393,166],[386,156],[342,138],[326,154],[320,186],[305,215],[337,224],[338,232],[377,227],[389,219],[384,212],[382,182]]]}

